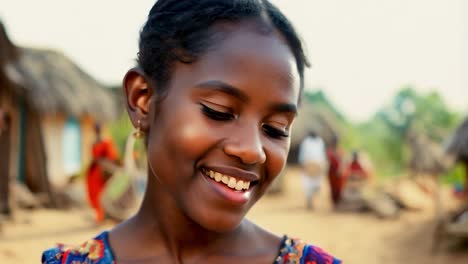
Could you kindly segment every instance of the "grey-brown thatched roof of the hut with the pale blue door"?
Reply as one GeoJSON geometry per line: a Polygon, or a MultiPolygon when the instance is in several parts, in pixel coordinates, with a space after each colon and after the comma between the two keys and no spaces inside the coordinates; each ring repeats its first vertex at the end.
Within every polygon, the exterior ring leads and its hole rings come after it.
{"type": "Polygon", "coordinates": [[[100,121],[116,116],[112,93],[63,54],[31,48],[20,51],[7,73],[35,109],[75,117],[91,115],[100,121]]]}

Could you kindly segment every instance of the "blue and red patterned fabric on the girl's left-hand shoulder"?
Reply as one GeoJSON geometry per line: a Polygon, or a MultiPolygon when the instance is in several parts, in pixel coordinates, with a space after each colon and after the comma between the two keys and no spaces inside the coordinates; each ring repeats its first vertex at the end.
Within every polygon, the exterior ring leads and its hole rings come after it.
{"type": "Polygon", "coordinates": [[[58,244],[42,253],[43,264],[115,264],[107,231],[80,246],[58,244]]]}

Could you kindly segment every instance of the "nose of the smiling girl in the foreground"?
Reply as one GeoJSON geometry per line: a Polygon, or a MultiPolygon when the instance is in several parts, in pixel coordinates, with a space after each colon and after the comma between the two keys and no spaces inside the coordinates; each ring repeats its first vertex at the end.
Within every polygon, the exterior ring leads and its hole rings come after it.
{"type": "Polygon", "coordinates": [[[225,141],[224,153],[238,157],[242,163],[248,165],[265,163],[266,154],[258,127],[232,130],[230,137],[225,141]]]}

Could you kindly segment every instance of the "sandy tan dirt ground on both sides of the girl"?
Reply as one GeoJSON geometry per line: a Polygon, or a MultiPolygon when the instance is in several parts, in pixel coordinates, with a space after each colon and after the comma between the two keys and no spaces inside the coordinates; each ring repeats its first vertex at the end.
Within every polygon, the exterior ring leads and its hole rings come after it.
{"type": "MultiPolygon", "coordinates": [[[[435,226],[432,209],[403,212],[395,220],[370,213],[337,213],[331,209],[328,190],[322,189],[314,211],[304,209],[300,178],[290,171],[286,191],[264,197],[249,218],[278,234],[300,237],[341,258],[359,264],[462,264],[468,263],[468,246],[449,247],[446,241],[431,250],[435,226]]],[[[39,263],[41,252],[57,242],[77,244],[112,224],[95,226],[88,209],[20,211],[15,222],[3,224],[0,263],[39,263]]]]}

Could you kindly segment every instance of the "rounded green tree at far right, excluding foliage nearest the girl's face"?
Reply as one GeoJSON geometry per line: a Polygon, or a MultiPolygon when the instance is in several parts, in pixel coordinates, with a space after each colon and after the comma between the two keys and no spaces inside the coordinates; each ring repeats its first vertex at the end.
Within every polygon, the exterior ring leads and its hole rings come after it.
{"type": "Polygon", "coordinates": [[[459,120],[439,94],[421,95],[404,87],[359,131],[365,139],[363,147],[371,152],[380,171],[398,174],[407,164],[412,136],[423,135],[442,144],[459,120]]]}

